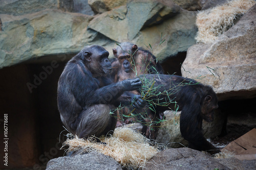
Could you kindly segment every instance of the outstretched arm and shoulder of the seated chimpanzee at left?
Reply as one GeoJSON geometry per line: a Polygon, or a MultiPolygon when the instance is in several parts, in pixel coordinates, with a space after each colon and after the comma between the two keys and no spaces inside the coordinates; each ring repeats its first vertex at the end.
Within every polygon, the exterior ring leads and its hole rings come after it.
{"type": "Polygon", "coordinates": [[[66,81],[80,106],[95,104],[112,104],[124,91],[137,90],[141,87],[139,79],[127,79],[99,88],[99,81],[93,78],[80,63],[70,64],[73,70],[67,75],[66,81]],[[84,86],[87,85],[87,86],[84,86]]]}

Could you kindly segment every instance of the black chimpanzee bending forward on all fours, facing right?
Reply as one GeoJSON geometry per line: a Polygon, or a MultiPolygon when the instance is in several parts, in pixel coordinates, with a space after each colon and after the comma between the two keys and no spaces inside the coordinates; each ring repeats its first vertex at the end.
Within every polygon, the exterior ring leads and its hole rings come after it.
{"type": "MultiPolygon", "coordinates": [[[[218,108],[217,95],[210,86],[174,75],[141,75],[140,78],[142,82],[156,81],[155,95],[151,95],[150,100],[161,103],[171,99],[174,104],[170,104],[167,108],[174,110],[176,110],[175,101],[177,102],[181,110],[180,131],[184,139],[189,142],[189,148],[207,151],[210,154],[220,152],[204,138],[202,133],[202,120],[214,121],[214,110],[218,108]]],[[[167,110],[167,108],[157,107],[157,110],[167,110]]]]}

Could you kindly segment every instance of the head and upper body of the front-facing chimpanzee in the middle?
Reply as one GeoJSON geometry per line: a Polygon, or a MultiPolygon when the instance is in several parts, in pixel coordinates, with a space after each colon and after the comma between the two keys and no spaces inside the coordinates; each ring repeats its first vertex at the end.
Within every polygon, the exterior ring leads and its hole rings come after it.
{"type": "Polygon", "coordinates": [[[156,57],[130,42],[120,43],[113,48],[116,60],[112,61],[114,82],[133,79],[144,74],[163,74],[163,68],[156,57]]]}

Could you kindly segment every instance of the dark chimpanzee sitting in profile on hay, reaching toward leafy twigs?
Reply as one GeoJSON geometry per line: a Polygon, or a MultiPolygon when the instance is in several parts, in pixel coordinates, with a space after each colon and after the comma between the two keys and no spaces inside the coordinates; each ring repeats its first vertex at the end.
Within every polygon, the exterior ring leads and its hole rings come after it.
{"type": "MultiPolygon", "coordinates": [[[[112,134],[116,115],[110,114],[111,109],[123,102],[124,91],[141,87],[138,78],[111,84],[106,78],[112,71],[108,56],[102,46],[86,46],[67,63],[59,78],[57,101],[61,121],[80,138],[112,134]]],[[[143,107],[143,101],[136,98],[134,106],[143,107]]]]}

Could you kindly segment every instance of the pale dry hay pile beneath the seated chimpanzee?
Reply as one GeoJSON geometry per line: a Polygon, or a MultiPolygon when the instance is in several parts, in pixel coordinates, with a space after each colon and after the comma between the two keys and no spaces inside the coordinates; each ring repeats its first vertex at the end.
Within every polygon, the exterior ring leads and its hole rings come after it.
{"type": "Polygon", "coordinates": [[[111,156],[123,167],[132,169],[143,168],[146,161],[156,155],[157,146],[150,145],[151,141],[142,134],[130,128],[117,128],[112,137],[100,137],[102,143],[95,138],[80,139],[75,136],[67,139],[63,146],[68,145],[69,151],[84,150],[100,152],[111,156]]]}

